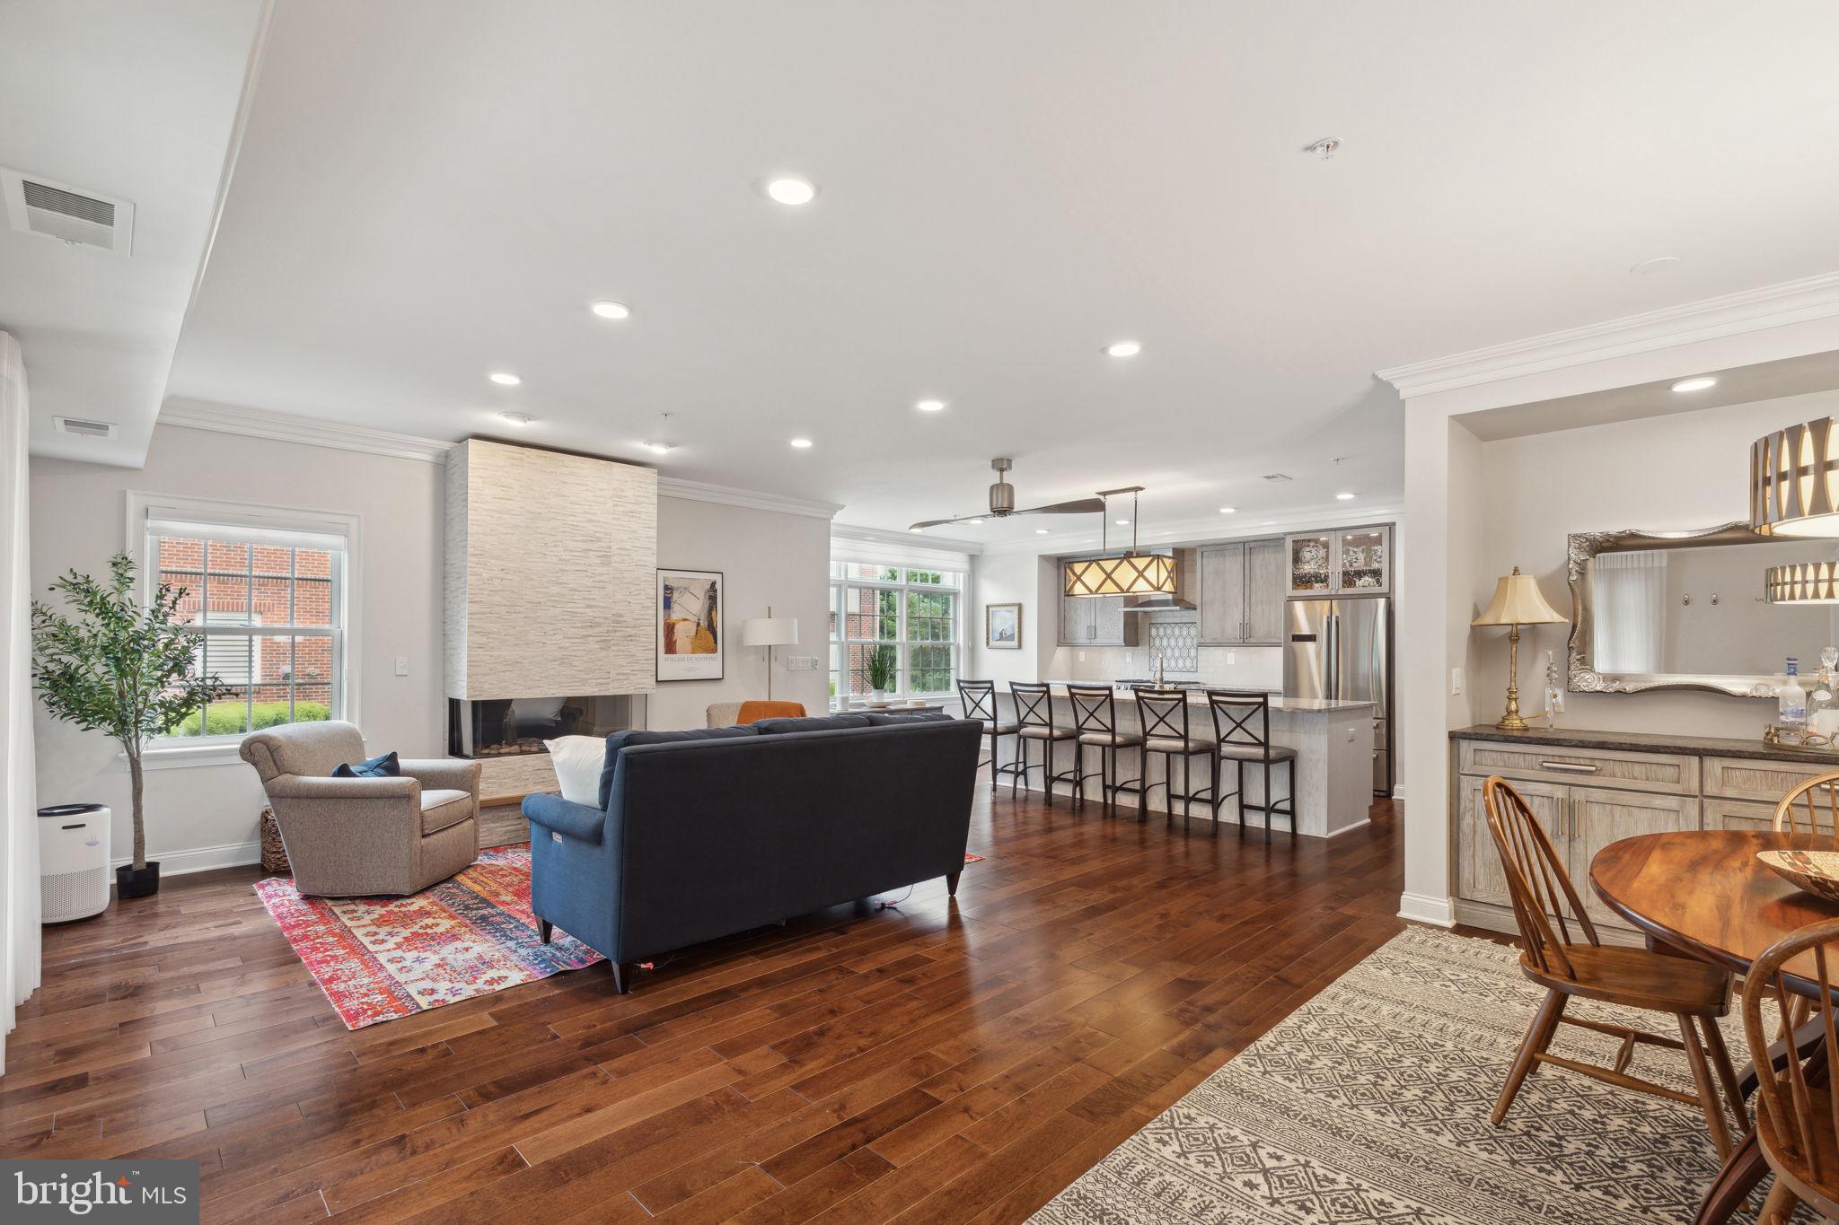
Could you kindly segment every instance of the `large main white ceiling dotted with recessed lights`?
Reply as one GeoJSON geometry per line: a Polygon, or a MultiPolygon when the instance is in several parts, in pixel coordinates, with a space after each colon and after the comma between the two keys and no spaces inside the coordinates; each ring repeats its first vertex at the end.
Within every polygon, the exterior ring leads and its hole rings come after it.
{"type": "Polygon", "coordinates": [[[169,391],[644,461],[669,411],[664,472],[874,527],[991,455],[1359,518],[1374,369],[1839,268],[1833,46],[1824,0],[281,0],[169,391]]]}

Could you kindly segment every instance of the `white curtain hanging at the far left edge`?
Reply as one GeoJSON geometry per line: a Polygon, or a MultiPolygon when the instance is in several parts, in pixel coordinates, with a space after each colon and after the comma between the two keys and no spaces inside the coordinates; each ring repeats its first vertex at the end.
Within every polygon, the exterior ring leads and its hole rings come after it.
{"type": "Polygon", "coordinates": [[[0,332],[0,1071],[13,1010],[39,990],[26,494],[26,367],[18,343],[0,332]]]}

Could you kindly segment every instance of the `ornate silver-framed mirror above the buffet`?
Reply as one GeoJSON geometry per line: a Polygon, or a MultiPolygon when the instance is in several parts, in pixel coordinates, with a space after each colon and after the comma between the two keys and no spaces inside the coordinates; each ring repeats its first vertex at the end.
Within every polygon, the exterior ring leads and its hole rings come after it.
{"type": "Polygon", "coordinates": [[[1572,692],[1708,689],[1773,698],[1782,661],[1811,674],[1839,641],[1832,604],[1769,604],[1771,566],[1830,560],[1830,540],[1760,536],[1747,522],[1705,531],[1567,538],[1572,692]]]}

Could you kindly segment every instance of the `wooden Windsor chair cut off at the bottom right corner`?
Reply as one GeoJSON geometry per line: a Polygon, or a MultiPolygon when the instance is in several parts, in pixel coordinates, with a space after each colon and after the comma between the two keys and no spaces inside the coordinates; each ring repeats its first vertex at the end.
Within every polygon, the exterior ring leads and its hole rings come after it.
{"type": "Polygon", "coordinates": [[[1743,1038],[1756,1067],[1756,1142],[1775,1170],[1775,1186],[1756,1218],[1762,1225],[1786,1225],[1797,1203],[1839,1218],[1839,1093],[1828,1076],[1828,1060],[1839,1054],[1835,942],[1839,918],[1808,924],[1764,950],[1743,979],[1743,1038]],[[1813,997],[1789,994],[1784,973],[1813,986],[1813,997]],[[1824,1047],[1808,1060],[1778,1060],[1771,1051],[1776,1027],[1764,1021],[1764,999],[1773,999],[1782,1016],[1795,1001],[1808,1001],[1824,1032],[1824,1047]]]}

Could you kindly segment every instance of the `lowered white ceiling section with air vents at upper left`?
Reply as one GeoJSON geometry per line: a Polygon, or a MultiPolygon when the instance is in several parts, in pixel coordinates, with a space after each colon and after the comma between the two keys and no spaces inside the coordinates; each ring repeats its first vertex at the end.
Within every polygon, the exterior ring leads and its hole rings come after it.
{"type": "Polygon", "coordinates": [[[129,255],[18,233],[0,208],[33,454],[147,454],[259,20],[259,0],[0,0],[0,165],[136,206],[129,255]],[[120,430],[72,437],[53,415],[120,430]]]}

